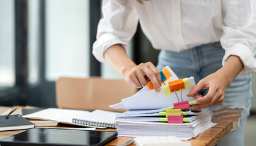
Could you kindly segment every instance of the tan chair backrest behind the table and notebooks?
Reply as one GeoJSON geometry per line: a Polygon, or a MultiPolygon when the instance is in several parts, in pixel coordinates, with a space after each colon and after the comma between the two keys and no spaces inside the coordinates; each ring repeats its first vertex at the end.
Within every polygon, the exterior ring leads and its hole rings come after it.
{"type": "Polygon", "coordinates": [[[109,80],[100,77],[67,78],[56,81],[56,103],[58,108],[84,109],[93,111],[125,111],[112,109],[109,105],[121,102],[121,99],[133,96],[137,91],[125,80],[109,80]]]}

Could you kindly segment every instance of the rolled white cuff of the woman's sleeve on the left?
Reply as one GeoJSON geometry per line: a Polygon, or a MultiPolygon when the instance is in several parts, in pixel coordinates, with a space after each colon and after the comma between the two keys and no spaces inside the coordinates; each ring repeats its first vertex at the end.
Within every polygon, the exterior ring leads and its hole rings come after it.
{"type": "Polygon", "coordinates": [[[108,39],[100,39],[95,41],[93,43],[93,50],[92,54],[95,56],[95,58],[100,61],[101,63],[106,62],[106,59],[104,58],[103,54],[104,52],[114,44],[121,44],[123,49],[125,49],[126,54],[128,54],[128,49],[127,49],[127,43],[121,41],[119,38],[108,38],[108,39]]]}

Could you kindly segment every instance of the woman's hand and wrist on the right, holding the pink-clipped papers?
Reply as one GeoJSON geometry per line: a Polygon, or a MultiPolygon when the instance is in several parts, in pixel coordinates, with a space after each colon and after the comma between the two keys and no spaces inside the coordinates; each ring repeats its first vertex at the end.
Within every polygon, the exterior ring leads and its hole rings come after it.
{"type": "Polygon", "coordinates": [[[222,105],[225,89],[230,86],[236,75],[238,75],[243,68],[243,62],[240,58],[235,55],[230,55],[221,69],[203,78],[191,89],[187,96],[192,96],[196,99],[196,105],[193,105],[191,109],[207,108],[211,105],[222,105]],[[209,91],[206,96],[202,97],[202,95],[197,94],[200,89],[209,89],[209,91]]]}

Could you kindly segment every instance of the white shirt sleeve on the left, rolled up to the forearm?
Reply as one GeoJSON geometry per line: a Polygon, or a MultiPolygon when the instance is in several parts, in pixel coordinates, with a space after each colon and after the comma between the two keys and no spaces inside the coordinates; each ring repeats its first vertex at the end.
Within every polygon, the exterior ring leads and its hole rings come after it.
{"type": "Polygon", "coordinates": [[[126,0],[104,0],[102,12],[92,54],[98,61],[106,62],[103,54],[114,44],[121,44],[128,52],[127,43],[136,32],[139,16],[131,2],[126,0]]]}

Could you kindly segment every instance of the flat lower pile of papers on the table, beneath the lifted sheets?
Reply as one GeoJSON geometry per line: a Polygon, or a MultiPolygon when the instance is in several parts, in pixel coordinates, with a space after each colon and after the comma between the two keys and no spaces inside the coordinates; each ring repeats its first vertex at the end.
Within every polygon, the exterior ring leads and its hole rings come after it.
{"type": "MultiPolygon", "coordinates": [[[[147,110],[143,111],[146,112],[147,110]]],[[[152,110],[148,110],[150,112],[152,110]]],[[[130,114],[137,111],[128,111],[128,113],[117,114],[115,118],[115,127],[119,136],[177,136],[181,140],[196,137],[202,131],[213,127],[211,122],[210,109],[205,108],[202,111],[188,113],[197,113],[191,116],[189,122],[167,123],[160,122],[159,116],[146,116],[146,114],[130,114]]],[[[158,113],[148,113],[148,115],[158,113]]]]}

